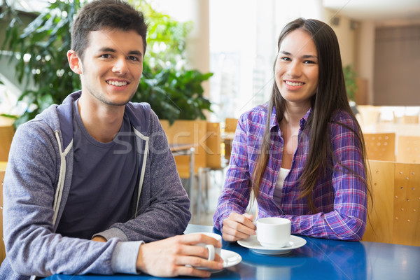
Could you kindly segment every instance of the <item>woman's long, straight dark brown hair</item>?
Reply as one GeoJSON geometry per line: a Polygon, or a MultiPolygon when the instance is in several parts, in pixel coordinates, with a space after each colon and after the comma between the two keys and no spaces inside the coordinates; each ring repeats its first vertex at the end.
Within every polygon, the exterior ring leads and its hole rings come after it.
{"type": "MultiPolygon", "coordinates": [[[[347,129],[353,131],[358,139],[358,148],[363,158],[363,163],[366,167],[365,155],[365,141],[360,126],[356,117],[351,111],[349,101],[346,94],[346,86],[344,83],[344,74],[342,71],[342,61],[339,52],[339,45],[337,36],[324,22],[319,20],[305,20],[298,18],[289,22],[283,28],[279,36],[278,48],[280,50],[281,41],[290,32],[296,29],[302,29],[311,35],[312,40],[318,52],[318,87],[316,94],[311,97],[311,114],[304,127],[304,133],[309,134],[309,155],[307,162],[304,165],[302,176],[300,177],[300,198],[306,197],[309,209],[312,213],[317,213],[312,198],[312,190],[314,190],[319,176],[325,174],[329,169],[332,169],[331,158],[334,156],[330,144],[330,134],[328,132],[328,123],[331,122],[333,114],[337,110],[345,111],[353,118],[356,123],[356,131],[342,123],[347,129]],[[316,147],[316,149],[314,148],[316,147]]],[[[274,64],[275,66],[275,64],[274,64]]],[[[274,73],[275,74],[275,73],[274,73]]],[[[257,164],[253,176],[253,195],[258,197],[260,193],[260,184],[262,176],[267,167],[269,160],[269,146],[270,146],[270,116],[273,109],[276,109],[276,119],[278,123],[283,120],[286,111],[286,100],[281,97],[279,88],[274,81],[272,96],[268,105],[267,123],[265,126],[264,136],[262,138],[262,145],[260,154],[258,155],[257,164]]],[[[352,170],[348,170],[352,172],[352,170]]],[[[365,168],[365,178],[367,178],[367,168],[365,168]]],[[[365,179],[363,179],[365,181],[365,179]]],[[[367,181],[367,191],[368,184],[367,181]]]]}

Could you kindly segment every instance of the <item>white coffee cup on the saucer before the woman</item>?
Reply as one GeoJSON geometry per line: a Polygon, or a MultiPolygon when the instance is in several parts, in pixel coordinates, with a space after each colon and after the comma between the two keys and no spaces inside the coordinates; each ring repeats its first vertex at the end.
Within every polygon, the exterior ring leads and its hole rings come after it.
{"type": "Polygon", "coordinates": [[[257,220],[257,240],[263,247],[282,248],[290,239],[290,220],[270,217],[257,220]]]}

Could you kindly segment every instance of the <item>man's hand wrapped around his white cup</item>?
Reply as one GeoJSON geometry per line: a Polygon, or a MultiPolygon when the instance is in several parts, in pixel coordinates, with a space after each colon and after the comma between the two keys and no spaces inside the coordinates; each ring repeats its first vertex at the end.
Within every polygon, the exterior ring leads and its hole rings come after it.
{"type": "Polygon", "coordinates": [[[207,260],[207,248],[195,246],[197,243],[212,244],[221,248],[221,242],[207,235],[177,235],[160,241],[140,246],[137,257],[137,269],[153,276],[173,277],[179,275],[209,277],[211,273],[194,267],[223,269],[223,260],[215,255],[214,260],[207,260]],[[186,266],[188,265],[188,266],[186,266]]]}

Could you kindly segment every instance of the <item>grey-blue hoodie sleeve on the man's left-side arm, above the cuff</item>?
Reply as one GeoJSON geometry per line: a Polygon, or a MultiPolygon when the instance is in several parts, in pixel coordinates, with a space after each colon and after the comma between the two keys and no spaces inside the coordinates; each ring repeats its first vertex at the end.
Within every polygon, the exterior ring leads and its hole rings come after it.
{"type": "Polygon", "coordinates": [[[10,148],[3,185],[8,263],[22,275],[113,274],[113,251],[120,239],[105,243],[54,232],[57,172],[59,151],[50,127],[39,120],[21,125],[10,148]]]}

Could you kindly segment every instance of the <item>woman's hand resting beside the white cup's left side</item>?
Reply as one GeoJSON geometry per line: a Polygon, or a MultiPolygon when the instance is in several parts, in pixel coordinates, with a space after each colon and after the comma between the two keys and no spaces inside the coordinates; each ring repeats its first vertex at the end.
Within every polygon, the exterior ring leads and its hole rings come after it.
{"type": "Polygon", "coordinates": [[[222,237],[225,241],[247,239],[255,235],[257,227],[253,224],[253,215],[232,212],[223,220],[222,237]]]}

